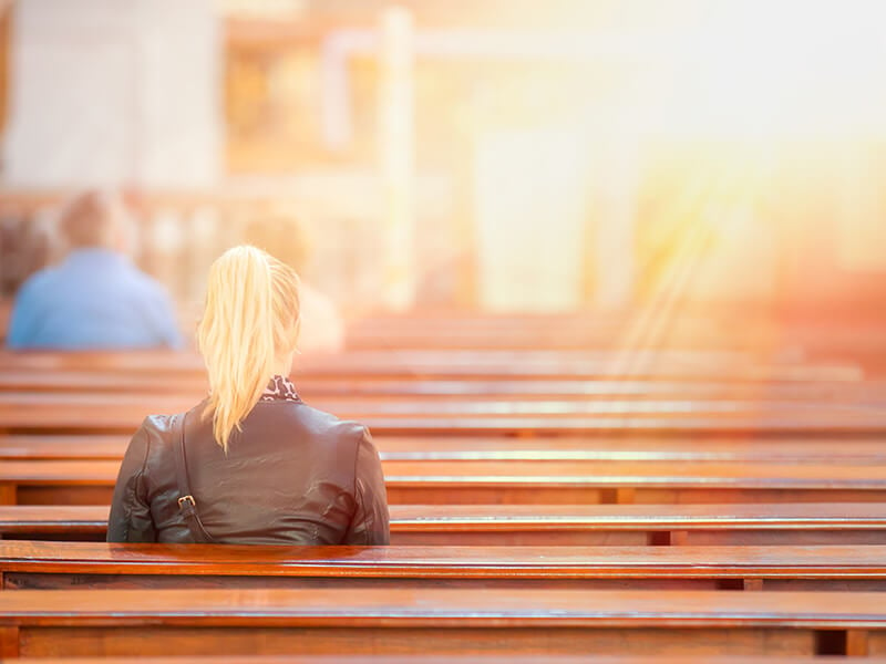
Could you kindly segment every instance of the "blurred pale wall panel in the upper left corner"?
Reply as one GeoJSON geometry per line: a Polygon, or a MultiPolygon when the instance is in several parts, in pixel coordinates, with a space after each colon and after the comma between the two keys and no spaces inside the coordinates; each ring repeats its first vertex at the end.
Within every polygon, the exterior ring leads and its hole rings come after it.
{"type": "Polygon", "coordinates": [[[4,179],[213,185],[222,60],[210,0],[28,0],[13,15],[4,179]]]}

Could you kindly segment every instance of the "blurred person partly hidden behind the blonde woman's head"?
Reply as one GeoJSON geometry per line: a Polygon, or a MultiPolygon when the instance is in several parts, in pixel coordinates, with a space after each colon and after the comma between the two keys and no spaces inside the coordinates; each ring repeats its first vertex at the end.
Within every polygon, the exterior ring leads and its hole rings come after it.
{"type": "MultiPolygon", "coordinates": [[[[309,243],[302,225],[286,216],[259,217],[246,227],[246,241],[269,251],[299,274],[308,262],[309,243]]],[[[301,280],[299,352],[338,353],[344,347],[344,322],[332,300],[301,280]]]]}

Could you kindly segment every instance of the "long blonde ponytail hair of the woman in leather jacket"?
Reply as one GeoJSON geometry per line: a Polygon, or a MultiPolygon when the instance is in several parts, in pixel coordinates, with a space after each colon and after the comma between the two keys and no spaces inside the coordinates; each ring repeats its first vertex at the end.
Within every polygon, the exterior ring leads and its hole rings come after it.
{"type": "Polygon", "coordinates": [[[299,278],[251,246],[228,249],[209,268],[197,342],[209,374],[213,435],[227,454],[234,429],[258,403],[275,365],[296,350],[299,278]]]}

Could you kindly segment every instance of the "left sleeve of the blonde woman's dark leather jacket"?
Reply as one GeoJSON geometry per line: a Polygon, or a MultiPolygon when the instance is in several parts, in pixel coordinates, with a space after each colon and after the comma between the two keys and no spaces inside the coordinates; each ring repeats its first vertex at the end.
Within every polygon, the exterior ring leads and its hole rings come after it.
{"type": "Polygon", "coordinates": [[[120,465],[111,515],[107,519],[109,542],[156,541],[145,477],[150,445],[150,434],[143,423],[130,440],[123,463],[120,465]]]}

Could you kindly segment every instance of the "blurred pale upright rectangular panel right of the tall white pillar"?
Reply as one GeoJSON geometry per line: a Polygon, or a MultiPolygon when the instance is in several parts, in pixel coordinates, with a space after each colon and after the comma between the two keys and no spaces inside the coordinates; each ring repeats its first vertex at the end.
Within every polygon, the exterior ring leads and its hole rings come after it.
{"type": "Polygon", "coordinates": [[[476,222],[481,305],[569,311],[581,301],[584,142],[562,128],[477,137],[476,222]]]}

